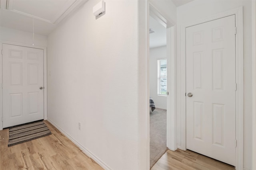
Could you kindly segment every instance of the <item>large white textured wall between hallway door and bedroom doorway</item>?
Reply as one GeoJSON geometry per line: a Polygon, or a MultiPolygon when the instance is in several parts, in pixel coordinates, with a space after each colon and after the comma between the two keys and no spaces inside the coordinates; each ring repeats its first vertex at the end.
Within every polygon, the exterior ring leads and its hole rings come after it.
{"type": "Polygon", "coordinates": [[[105,0],[96,19],[97,2],[48,36],[48,120],[104,168],[146,170],[146,1],[105,0]]]}

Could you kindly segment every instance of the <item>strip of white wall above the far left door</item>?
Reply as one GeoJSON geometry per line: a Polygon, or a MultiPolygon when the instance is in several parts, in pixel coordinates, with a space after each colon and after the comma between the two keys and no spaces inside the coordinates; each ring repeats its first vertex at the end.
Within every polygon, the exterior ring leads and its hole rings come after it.
{"type": "MultiPolygon", "coordinates": [[[[7,27],[1,27],[1,41],[9,41],[14,43],[22,43],[32,45],[33,34],[29,32],[19,31],[7,27]]],[[[34,34],[34,45],[47,46],[47,37],[44,35],[34,34]]]]}

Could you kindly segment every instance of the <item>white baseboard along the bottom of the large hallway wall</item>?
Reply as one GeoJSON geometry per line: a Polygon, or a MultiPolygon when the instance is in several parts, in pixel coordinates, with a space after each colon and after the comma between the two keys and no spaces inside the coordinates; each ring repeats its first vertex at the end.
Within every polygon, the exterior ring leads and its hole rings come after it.
{"type": "Polygon", "coordinates": [[[63,133],[68,139],[70,139],[70,141],[72,141],[77,147],[79,147],[84,152],[84,154],[86,154],[89,158],[92,158],[95,162],[97,162],[97,164],[99,164],[104,170],[111,170],[111,168],[108,165],[106,165],[102,160],[100,160],[100,158],[95,156],[92,152],[90,152],[90,150],[86,149],[83,145],[76,141],[76,139],[68,135],[68,133],[66,133],[63,129],[61,129],[58,125],[51,121],[51,119],[48,118],[47,121],[54,125],[54,127],[56,127],[61,133],[63,133]]]}

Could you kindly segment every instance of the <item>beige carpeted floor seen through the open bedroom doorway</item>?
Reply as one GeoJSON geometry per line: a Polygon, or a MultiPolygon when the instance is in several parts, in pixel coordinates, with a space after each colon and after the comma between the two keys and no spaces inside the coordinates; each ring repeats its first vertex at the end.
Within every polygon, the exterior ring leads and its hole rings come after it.
{"type": "Polygon", "coordinates": [[[166,152],[166,110],[150,111],[150,168],[166,152]]]}

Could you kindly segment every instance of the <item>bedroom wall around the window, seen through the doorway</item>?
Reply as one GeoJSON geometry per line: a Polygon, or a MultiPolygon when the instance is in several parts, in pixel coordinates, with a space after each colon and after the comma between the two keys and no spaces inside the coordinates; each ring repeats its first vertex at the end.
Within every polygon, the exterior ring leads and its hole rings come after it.
{"type": "Polygon", "coordinates": [[[166,59],[166,46],[151,48],[149,50],[149,87],[150,97],[154,100],[155,106],[166,109],[166,96],[159,96],[158,91],[158,64],[159,59],[166,59]]]}

